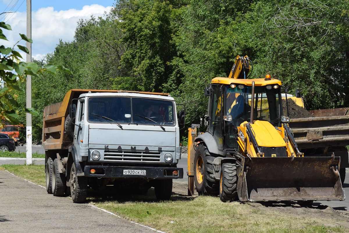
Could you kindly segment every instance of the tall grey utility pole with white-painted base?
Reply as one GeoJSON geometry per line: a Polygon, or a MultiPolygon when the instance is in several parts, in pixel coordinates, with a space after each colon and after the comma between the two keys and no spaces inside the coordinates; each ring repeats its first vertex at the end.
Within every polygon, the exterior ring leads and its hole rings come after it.
{"type": "MultiPolygon", "coordinates": [[[[27,37],[31,39],[31,0],[27,0],[27,37]]],[[[27,63],[31,62],[31,43],[27,42],[27,48],[29,54],[27,54],[27,63]]],[[[27,75],[27,108],[31,108],[31,75],[27,75]]],[[[32,137],[31,137],[31,114],[27,112],[27,127],[26,127],[26,139],[27,139],[27,148],[26,148],[26,164],[30,165],[33,163],[32,159],[32,137]]]]}

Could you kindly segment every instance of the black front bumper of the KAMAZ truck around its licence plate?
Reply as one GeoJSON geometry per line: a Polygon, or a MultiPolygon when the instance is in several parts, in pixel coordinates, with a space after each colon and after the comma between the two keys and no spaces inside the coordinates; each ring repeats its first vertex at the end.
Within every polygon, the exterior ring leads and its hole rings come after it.
{"type": "Polygon", "coordinates": [[[107,178],[149,178],[149,179],[182,179],[183,168],[176,167],[128,167],[128,166],[85,166],[84,176],[107,178]],[[94,174],[91,170],[94,170],[94,174]],[[124,170],[145,170],[145,175],[124,174],[124,170]],[[174,175],[177,174],[177,175],[174,175]]]}

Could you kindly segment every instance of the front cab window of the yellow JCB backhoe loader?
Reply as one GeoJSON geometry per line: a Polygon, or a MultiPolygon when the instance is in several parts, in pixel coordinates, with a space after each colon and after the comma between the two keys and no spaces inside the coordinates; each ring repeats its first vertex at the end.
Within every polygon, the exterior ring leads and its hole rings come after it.
{"type": "MultiPolygon", "coordinates": [[[[232,123],[235,125],[251,120],[251,93],[252,87],[244,87],[243,89],[236,87],[227,90],[226,115],[232,116],[232,123]]],[[[255,87],[254,120],[269,121],[272,125],[277,126],[280,117],[279,109],[279,88],[255,87]]]]}

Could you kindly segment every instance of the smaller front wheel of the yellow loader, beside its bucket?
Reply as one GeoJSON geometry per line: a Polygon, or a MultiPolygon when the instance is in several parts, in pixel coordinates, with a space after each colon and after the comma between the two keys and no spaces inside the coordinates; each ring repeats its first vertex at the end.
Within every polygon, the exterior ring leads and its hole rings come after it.
{"type": "Polygon", "coordinates": [[[237,201],[237,171],[234,163],[223,163],[221,168],[219,197],[222,202],[237,201]]]}

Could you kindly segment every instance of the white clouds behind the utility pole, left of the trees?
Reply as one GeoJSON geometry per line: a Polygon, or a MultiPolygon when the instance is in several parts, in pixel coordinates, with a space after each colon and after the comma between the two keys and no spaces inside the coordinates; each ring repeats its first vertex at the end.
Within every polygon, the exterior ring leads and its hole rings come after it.
{"type": "MultiPolygon", "coordinates": [[[[43,58],[47,53],[53,52],[59,39],[62,41],[72,41],[79,19],[90,19],[103,16],[104,12],[110,12],[111,7],[103,7],[98,4],[84,6],[81,10],[69,9],[55,11],[53,7],[40,8],[32,12],[32,57],[36,59],[43,58]]],[[[3,33],[9,40],[2,43],[5,46],[12,47],[21,39],[19,33],[27,34],[27,13],[17,12],[7,22],[11,25],[12,31],[3,30],[3,33]]],[[[25,45],[25,42],[21,42],[25,45]]],[[[25,59],[25,53],[23,53],[25,59]]]]}

